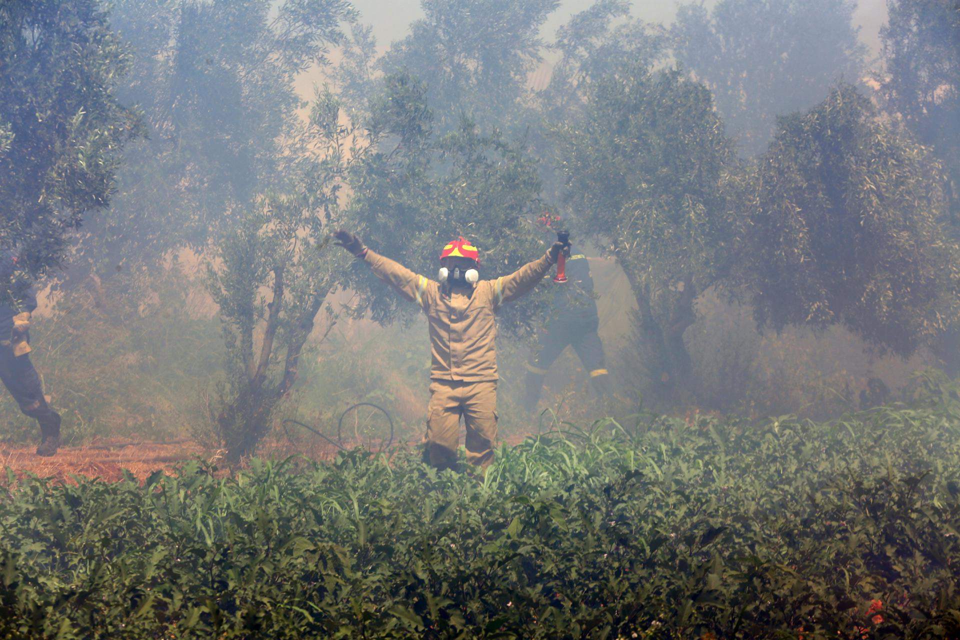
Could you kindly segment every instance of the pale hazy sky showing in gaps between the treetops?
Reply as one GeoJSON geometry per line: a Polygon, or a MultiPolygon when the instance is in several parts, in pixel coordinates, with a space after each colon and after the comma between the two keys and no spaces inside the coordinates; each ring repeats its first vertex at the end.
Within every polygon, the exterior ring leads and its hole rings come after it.
{"type": "MultiPolygon", "coordinates": [[[[422,15],[420,0],[353,0],[353,4],[362,12],[361,20],[373,26],[377,44],[385,47],[393,40],[406,35],[411,21],[422,15]]],[[[553,36],[557,27],[564,24],[575,12],[583,11],[593,4],[593,0],[563,0],[561,9],[555,12],[544,29],[544,36],[553,36]]],[[[677,7],[685,2],[676,0],[638,0],[633,3],[634,15],[650,22],[665,24],[673,20],[677,7]]],[[[709,7],[715,0],[707,0],[709,7]]],[[[860,0],[856,11],[856,21],[860,25],[860,37],[876,54],[879,48],[877,33],[880,25],[886,21],[885,0],[860,0]]]]}

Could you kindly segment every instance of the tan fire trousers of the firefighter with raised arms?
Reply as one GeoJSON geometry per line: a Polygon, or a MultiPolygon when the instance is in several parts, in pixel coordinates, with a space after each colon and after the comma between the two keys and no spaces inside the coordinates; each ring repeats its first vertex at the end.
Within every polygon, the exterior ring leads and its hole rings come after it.
{"type": "Polygon", "coordinates": [[[423,443],[431,465],[453,468],[460,445],[460,416],[467,426],[467,462],[486,467],[496,440],[496,381],[430,381],[423,443]]]}

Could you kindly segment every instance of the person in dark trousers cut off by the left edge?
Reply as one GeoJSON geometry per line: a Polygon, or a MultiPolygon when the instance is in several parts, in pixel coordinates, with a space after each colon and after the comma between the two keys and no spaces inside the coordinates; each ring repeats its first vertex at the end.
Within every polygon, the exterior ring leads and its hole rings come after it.
{"type": "MultiPolygon", "coordinates": [[[[0,282],[12,282],[16,254],[0,253],[0,282]]],[[[36,294],[26,290],[23,300],[15,300],[8,291],[0,297],[0,380],[11,392],[20,411],[36,419],[40,426],[37,456],[53,456],[60,447],[60,414],[47,404],[43,384],[30,360],[30,320],[36,309],[36,294]]]]}

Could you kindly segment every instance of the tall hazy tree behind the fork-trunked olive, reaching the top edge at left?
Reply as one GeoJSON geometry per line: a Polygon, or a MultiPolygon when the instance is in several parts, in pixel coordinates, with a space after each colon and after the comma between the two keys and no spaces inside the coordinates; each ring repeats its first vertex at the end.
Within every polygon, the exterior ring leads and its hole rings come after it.
{"type": "Polygon", "coordinates": [[[154,272],[179,249],[218,243],[224,212],[251,206],[277,179],[302,105],[297,78],[327,62],[355,15],[347,0],[113,5],[132,53],[117,91],[142,109],[147,136],[127,150],[108,215],[79,235],[67,288],[91,274],[96,285],[134,267],[154,272]]]}

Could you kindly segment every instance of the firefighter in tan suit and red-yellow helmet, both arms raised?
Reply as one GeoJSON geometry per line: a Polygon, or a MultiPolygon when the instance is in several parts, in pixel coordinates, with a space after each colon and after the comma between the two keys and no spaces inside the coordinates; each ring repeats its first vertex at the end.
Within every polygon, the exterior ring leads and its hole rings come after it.
{"type": "Polygon", "coordinates": [[[463,415],[467,461],[486,468],[493,459],[497,420],[493,314],[501,304],[532,290],[557,261],[564,244],[554,243],[540,259],[510,275],[481,280],[477,249],[460,237],[441,252],[441,268],[434,281],[367,249],[348,231],[334,235],[338,245],[426,314],[432,366],[424,458],[439,469],[456,466],[463,415]]]}

